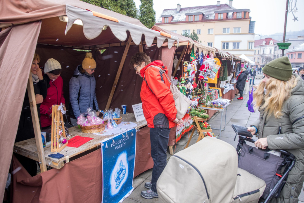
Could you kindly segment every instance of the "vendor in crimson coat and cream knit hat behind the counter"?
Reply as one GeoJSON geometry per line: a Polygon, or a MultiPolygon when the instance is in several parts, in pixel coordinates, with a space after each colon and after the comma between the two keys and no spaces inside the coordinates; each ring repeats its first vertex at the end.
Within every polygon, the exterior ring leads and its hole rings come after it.
{"type": "MultiPolygon", "coordinates": [[[[55,59],[49,59],[44,65],[43,77],[47,81],[47,97],[43,99],[40,105],[40,122],[43,129],[51,126],[52,105],[65,104],[63,97],[63,80],[60,77],[61,65],[55,59]]],[[[65,106],[64,106],[64,110],[65,106]]]]}

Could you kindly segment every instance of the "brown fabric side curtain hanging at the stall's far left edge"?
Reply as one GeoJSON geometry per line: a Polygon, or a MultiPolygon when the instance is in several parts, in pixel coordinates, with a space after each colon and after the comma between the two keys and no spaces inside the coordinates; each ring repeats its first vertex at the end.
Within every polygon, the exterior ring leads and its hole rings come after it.
{"type": "Polygon", "coordinates": [[[0,32],[0,200],[4,195],[40,26],[41,22],[34,22],[0,32]]]}

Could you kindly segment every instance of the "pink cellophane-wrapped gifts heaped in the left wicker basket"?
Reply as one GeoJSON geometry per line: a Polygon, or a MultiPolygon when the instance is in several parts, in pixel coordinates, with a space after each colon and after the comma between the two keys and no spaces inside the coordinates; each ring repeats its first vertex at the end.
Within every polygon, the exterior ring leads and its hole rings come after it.
{"type": "Polygon", "coordinates": [[[81,126],[100,125],[104,121],[96,115],[96,111],[89,107],[85,113],[80,114],[77,118],[77,124],[81,126]]]}

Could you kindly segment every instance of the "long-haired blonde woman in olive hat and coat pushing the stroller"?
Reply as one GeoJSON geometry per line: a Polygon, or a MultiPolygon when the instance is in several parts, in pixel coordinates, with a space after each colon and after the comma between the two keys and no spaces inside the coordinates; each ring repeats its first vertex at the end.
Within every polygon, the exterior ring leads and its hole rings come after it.
{"type": "Polygon", "coordinates": [[[304,181],[304,81],[292,73],[286,56],[266,64],[263,73],[265,78],[253,94],[260,119],[248,131],[259,134],[256,147],[295,155],[295,166],[280,196],[271,202],[298,202],[304,181]]]}

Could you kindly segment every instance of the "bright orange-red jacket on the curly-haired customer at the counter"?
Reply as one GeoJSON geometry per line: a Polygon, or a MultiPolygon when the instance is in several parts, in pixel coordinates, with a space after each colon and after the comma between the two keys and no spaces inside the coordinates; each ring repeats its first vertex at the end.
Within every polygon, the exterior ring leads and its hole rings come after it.
{"type": "Polygon", "coordinates": [[[159,69],[149,66],[158,66],[168,73],[168,69],[161,61],[154,61],[140,70],[143,77],[140,98],[143,102],[143,115],[150,128],[172,128],[177,110],[170,83],[159,69]],[[146,71],[147,69],[147,71],[146,71]],[[146,77],[145,77],[146,76],[146,77]]]}

